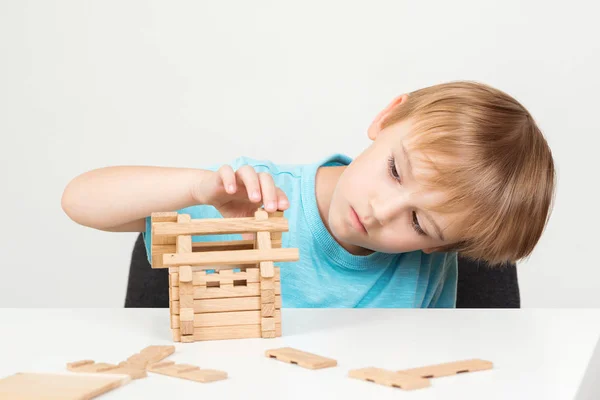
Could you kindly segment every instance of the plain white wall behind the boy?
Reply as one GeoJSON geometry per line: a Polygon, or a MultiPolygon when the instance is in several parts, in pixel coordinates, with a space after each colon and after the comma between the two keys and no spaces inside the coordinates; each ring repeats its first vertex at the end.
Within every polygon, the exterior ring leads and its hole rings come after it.
{"type": "Polygon", "coordinates": [[[395,96],[460,79],[519,100],[555,156],[552,219],[519,264],[523,307],[600,306],[595,7],[0,1],[0,306],[123,305],[137,234],[63,213],[80,173],[356,157],[395,96]]]}

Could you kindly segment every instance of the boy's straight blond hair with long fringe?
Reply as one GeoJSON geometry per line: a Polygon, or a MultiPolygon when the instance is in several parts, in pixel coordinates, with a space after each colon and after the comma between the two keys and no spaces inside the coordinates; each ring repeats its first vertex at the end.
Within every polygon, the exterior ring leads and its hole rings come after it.
{"type": "Polygon", "coordinates": [[[488,85],[456,81],[409,93],[381,128],[405,120],[407,151],[433,172],[420,183],[447,195],[429,209],[461,216],[453,226],[460,239],[440,251],[497,266],[529,256],[550,218],[556,176],[525,107],[488,85]]]}

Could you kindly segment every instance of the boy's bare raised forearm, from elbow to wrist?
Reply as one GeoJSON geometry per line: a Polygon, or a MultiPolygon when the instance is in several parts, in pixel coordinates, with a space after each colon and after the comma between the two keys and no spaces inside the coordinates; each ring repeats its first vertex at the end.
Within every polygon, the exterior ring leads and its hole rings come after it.
{"type": "Polygon", "coordinates": [[[75,222],[107,229],[196,204],[190,188],[211,171],[191,168],[114,166],[74,178],[62,208],[75,222]]]}

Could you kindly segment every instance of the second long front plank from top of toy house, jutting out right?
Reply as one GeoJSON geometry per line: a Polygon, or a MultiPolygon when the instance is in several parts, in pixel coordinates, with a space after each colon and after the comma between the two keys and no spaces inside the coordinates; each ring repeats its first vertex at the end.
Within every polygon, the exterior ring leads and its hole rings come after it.
{"type": "Polygon", "coordinates": [[[187,254],[167,253],[163,254],[162,267],[178,267],[182,265],[220,266],[259,263],[261,261],[286,262],[297,261],[298,259],[299,251],[297,248],[207,251],[187,254]]]}

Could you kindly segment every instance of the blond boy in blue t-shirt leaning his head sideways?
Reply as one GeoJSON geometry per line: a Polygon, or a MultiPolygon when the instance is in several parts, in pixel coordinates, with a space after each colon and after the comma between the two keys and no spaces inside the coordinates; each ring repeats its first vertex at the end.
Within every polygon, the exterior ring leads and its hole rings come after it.
{"type": "Polygon", "coordinates": [[[283,307],[454,307],[457,252],[491,264],[532,252],[552,209],[554,164],[512,97],[468,81],[427,87],[395,98],[368,136],[355,160],[101,168],[73,179],[62,207],[85,226],[144,232],[149,260],[154,211],[283,210],[282,246],[300,252],[278,263],[283,307]]]}

